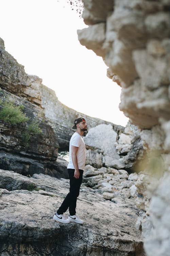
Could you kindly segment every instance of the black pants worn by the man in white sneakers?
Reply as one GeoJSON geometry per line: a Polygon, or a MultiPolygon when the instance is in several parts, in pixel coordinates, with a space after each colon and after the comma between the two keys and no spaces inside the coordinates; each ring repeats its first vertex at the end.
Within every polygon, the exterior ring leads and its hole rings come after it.
{"type": "Polygon", "coordinates": [[[68,177],[70,179],[70,192],[67,194],[66,198],[64,199],[61,207],[58,209],[58,214],[63,214],[69,208],[70,215],[75,215],[76,211],[76,203],[77,197],[80,193],[80,186],[83,179],[83,170],[79,170],[80,176],[79,179],[74,178],[74,169],[67,169],[68,177]]]}

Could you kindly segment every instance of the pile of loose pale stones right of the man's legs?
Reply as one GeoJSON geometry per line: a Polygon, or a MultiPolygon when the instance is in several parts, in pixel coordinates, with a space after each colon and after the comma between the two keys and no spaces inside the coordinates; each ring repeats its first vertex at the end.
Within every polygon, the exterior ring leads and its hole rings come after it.
{"type": "Polygon", "coordinates": [[[98,189],[98,192],[105,199],[112,199],[115,195],[132,198],[137,194],[135,182],[139,177],[140,175],[137,173],[131,173],[129,175],[123,169],[117,170],[110,167],[96,169],[87,165],[84,171],[83,184],[87,187],[98,189]]]}

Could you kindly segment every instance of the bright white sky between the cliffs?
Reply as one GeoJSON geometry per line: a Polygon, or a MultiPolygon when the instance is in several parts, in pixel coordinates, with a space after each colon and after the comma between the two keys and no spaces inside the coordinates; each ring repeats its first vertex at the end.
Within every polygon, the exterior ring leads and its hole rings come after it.
{"type": "Polygon", "coordinates": [[[78,41],[87,27],[67,0],[1,0],[0,37],[5,49],[55,90],[65,105],[125,126],[121,88],[106,76],[101,57],[78,41]]]}

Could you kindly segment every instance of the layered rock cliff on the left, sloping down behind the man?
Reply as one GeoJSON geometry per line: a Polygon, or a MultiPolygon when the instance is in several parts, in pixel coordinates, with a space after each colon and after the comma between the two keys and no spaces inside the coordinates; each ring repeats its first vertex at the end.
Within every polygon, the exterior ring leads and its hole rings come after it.
{"type": "MultiPolygon", "coordinates": [[[[2,39],[0,100],[22,106],[23,113],[29,118],[26,124],[9,124],[0,120],[0,167],[23,175],[45,173],[67,178],[67,162],[57,158],[58,147],[61,150],[68,149],[69,140],[74,132],[71,130],[74,119],[84,116],[89,128],[98,124],[110,124],[62,104],[55,92],[43,85],[38,76],[25,73],[24,66],[5,51],[2,39]],[[31,122],[37,122],[41,134],[29,131],[31,122]]],[[[115,129],[119,127],[112,125],[115,129]]]]}

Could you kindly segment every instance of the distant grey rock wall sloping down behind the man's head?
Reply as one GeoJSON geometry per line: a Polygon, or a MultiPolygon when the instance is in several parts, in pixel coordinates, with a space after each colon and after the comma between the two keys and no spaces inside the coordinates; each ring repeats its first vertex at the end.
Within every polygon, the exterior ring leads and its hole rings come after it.
{"type": "MultiPolygon", "coordinates": [[[[99,124],[111,124],[115,129],[119,129],[119,125],[112,124],[110,122],[101,120],[99,118],[90,117],[61,103],[55,95],[55,91],[51,90],[47,86],[42,85],[40,87],[41,94],[41,106],[44,108],[46,118],[49,120],[50,125],[53,127],[60,148],[68,150],[69,141],[72,134],[75,132],[71,129],[74,124],[74,119],[77,117],[84,117],[88,129],[95,127],[99,124]]],[[[85,134],[84,134],[85,135],[85,134]]]]}

